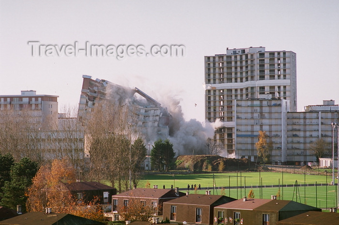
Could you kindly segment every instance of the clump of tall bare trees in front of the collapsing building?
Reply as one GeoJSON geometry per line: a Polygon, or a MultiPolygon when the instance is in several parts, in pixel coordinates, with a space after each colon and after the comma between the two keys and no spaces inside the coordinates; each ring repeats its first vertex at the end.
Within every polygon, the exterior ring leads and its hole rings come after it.
{"type": "Polygon", "coordinates": [[[89,177],[108,179],[119,192],[129,190],[137,183],[141,160],[144,160],[143,143],[137,141],[140,132],[133,105],[116,104],[102,100],[95,104],[91,117],[85,123],[90,140],[89,177]],[[135,143],[135,145],[132,145],[135,143]],[[143,146],[141,146],[143,145],[143,146]],[[138,158],[138,160],[136,160],[138,158]]]}

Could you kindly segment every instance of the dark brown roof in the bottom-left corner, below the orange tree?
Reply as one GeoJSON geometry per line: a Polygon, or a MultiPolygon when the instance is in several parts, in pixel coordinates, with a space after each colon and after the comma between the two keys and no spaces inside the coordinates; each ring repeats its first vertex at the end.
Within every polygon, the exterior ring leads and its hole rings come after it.
{"type": "Polygon", "coordinates": [[[104,225],[103,223],[67,213],[29,212],[0,221],[0,225],[104,225]]]}

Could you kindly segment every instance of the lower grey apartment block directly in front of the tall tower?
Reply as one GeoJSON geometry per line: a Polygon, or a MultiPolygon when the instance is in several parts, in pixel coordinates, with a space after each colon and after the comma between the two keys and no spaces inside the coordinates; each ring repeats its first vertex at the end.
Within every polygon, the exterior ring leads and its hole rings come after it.
{"type": "Polygon", "coordinates": [[[268,141],[272,142],[270,150],[272,163],[286,162],[286,113],[290,103],[284,99],[250,99],[235,100],[235,147],[237,158],[257,161],[259,131],[265,131],[268,141]]]}

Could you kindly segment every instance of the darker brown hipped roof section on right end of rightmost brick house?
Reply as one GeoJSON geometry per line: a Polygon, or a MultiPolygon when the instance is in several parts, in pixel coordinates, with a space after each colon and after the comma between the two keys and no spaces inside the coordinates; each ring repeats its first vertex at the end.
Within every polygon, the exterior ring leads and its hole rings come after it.
{"type": "Polygon", "coordinates": [[[288,200],[271,200],[270,202],[259,206],[257,210],[265,211],[295,211],[295,210],[319,210],[313,206],[308,206],[302,203],[288,201],[288,200]]]}

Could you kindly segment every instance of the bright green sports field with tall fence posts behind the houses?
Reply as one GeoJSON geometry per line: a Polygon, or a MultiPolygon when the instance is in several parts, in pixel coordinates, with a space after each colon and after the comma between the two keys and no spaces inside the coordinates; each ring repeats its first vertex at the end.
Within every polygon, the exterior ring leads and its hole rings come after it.
{"type": "MultiPolygon", "coordinates": [[[[187,191],[188,184],[190,186],[196,184],[197,187],[200,184],[200,191],[192,191],[190,188],[190,193],[205,193],[206,190],[210,190],[211,194],[225,193],[225,195],[233,198],[241,198],[247,195],[250,189],[253,189],[255,198],[271,198],[271,195],[277,195],[280,190],[280,199],[294,200],[323,209],[336,207],[337,201],[336,186],[326,185],[326,183],[332,181],[330,174],[327,176],[327,182],[326,176],[321,175],[275,172],[150,174],[145,175],[140,180],[138,187],[145,187],[147,181],[150,183],[151,188],[153,188],[153,185],[158,185],[158,188],[163,188],[163,185],[165,185],[165,188],[170,188],[173,185],[174,187],[179,187],[182,192],[187,191]],[[260,186],[260,180],[262,180],[262,194],[260,188],[257,188],[257,186],[260,186]],[[286,186],[293,185],[296,181],[298,186],[286,186]]],[[[338,179],[336,179],[336,182],[338,182],[338,179]]]]}

